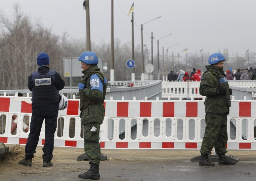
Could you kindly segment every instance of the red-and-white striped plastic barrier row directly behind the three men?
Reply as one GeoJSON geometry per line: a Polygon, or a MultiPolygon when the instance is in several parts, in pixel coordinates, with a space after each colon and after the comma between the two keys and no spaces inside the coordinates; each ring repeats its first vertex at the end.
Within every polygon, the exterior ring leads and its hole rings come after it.
{"type": "MultiPolygon", "coordinates": [[[[31,121],[29,100],[31,101],[31,98],[0,96],[0,141],[7,144],[26,144],[29,131],[27,132],[23,126],[25,123],[29,127],[31,121]],[[12,132],[13,116],[17,117],[17,127],[14,132],[12,132]]],[[[68,101],[70,102],[67,111],[58,115],[54,146],[83,148],[84,135],[79,118],[79,100],[68,101]]],[[[110,100],[105,101],[104,106],[105,118],[100,126],[101,148],[200,149],[201,147],[205,129],[204,101],[110,100]]],[[[256,101],[232,100],[228,115],[227,148],[256,149],[255,126],[256,101]]],[[[44,138],[43,124],[38,145],[44,145],[44,138]]]]}

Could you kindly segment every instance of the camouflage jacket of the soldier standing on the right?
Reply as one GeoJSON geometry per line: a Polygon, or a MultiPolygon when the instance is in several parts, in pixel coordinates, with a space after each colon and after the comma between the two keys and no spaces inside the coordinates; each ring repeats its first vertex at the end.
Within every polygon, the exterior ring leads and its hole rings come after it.
{"type": "Polygon", "coordinates": [[[207,70],[202,75],[199,88],[199,93],[206,96],[205,113],[228,114],[231,103],[228,81],[223,68],[212,65],[205,67],[207,70]],[[218,94],[217,88],[219,87],[227,90],[226,95],[218,94]]]}

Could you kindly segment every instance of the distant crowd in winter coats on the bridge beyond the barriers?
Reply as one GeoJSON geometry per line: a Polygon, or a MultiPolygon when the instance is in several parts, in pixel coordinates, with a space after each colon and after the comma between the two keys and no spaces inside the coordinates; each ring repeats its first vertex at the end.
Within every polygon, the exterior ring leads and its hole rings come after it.
{"type": "MultiPolygon", "coordinates": [[[[167,80],[171,81],[200,81],[202,77],[201,70],[193,68],[193,71],[190,73],[180,70],[179,72],[174,73],[172,70],[167,76],[167,80]]],[[[233,70],[229,68],[226,71],[227,80],[256,80],[256,69],[250,67],[250,69],[237,69],[233,70]]]]}

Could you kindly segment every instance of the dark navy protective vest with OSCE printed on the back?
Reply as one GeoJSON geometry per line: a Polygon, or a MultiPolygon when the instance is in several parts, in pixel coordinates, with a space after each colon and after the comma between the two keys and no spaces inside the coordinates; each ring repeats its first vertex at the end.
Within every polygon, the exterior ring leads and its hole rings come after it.
{"type": "Polygon", "coordinates": [[[33,72],[33,90],[32,103],[54,103],[60,101],[59,91],[54,85],[55,81],[54,70],[49,70],[46,74],[40,74],[38,71],[33,72]]]}

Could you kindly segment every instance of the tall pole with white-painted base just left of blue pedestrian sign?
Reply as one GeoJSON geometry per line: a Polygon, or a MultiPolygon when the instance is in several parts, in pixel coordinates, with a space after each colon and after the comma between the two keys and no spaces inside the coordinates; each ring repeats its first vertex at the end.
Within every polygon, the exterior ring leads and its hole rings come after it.
{"type": "Polygon", "coordinates": [[[111,0],[111,66],[110,66],[110,81],[115,80],[114,72],[114,0],[111,0]]]}

